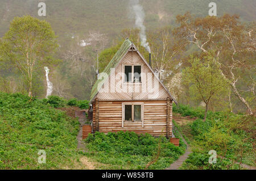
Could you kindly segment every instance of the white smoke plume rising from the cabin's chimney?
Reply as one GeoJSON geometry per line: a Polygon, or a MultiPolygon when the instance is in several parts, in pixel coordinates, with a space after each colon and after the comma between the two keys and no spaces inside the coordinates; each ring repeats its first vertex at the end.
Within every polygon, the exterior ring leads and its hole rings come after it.
{"type": "Polygon", "coordinates": [[[143,24],[145,18],[143,7],[139,4],[139,0],[130,0],[130,6],[131,15],[135,18],[135,26],[141,30],[139,33],[139,36],[141,37],[141,45],[151,53],[150,46],[147,42],[146,27],[143,24]]]}

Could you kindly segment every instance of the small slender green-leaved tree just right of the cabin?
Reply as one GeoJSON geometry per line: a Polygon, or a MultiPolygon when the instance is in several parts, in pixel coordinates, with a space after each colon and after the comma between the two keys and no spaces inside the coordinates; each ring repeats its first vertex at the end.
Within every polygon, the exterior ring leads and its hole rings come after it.
{"type": "Polygon", "coordinates": [[[228,83],[222,77],[220,65],[214,60],[212,54],[205,56],[204,60],[191,57],[188,62],[191,67],[183,71],[183,80],[191,85],[189,90],[192,95],[205,103],[205,121],[210,101],[224,96],[228,83]]]}

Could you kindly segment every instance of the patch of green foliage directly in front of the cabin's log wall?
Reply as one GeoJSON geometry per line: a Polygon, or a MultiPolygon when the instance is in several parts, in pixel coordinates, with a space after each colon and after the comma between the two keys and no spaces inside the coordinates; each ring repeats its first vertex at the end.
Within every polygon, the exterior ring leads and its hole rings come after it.
{"type": "Polygon", "coordinates": [[[112,165],[115,169],[144,169],[152,157],[158,152],[160,141],[160,157],[149,169],[164,169],[184,153],[184,146],[174,146],[165,137],[155,138],[150,134],[138,135],[134,132],[117,132],[108,134],[96,132],[86,138],[86,155],[97,161],[112,165]]]}

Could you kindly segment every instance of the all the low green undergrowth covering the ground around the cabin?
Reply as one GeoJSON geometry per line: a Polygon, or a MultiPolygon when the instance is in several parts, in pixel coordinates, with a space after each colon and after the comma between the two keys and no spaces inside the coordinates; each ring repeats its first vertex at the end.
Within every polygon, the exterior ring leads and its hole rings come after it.
{"type": "MultiPolygon", "coordinates": [[[[96,162],[96,169],[164,169],[184,154],[181,139],[176,147],[165,137],[134,132],[90,134],[86,151],[78,151],[78,121],[54,108],[78,102],[0,92],[0,169],[77,168],[83,156],[96,162]],[[38,163],[39,150],[46,151],[46,164],[38,163]]],[[[233,161],[255,166],[254,117],[209,111],[203,121],[203,109],[183,105],[174,112],[198,118],[182,126],[174,120],[175,137],[182,135],[193,150],[181,169],[240,169],[233,161]],[[217,151],[216,164],[208,163],[209,150],[217,151]]]]}

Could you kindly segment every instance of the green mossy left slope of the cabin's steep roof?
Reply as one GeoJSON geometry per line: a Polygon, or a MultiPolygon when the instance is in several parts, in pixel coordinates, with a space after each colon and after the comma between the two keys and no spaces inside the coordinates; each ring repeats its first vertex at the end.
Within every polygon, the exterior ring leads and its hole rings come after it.
{"type": "MultiPolygon", "coordinates": [[[[131,46],[131,41],[129,39],[126,39],[123,42],[123,44],[121,45],[121,47],[117,50],[117,53],[115,53],[112,60],[109,62],[109,64],[103,70],[103,72],[110,75],[110,69],[115,68],[117,66],[117,64],[119,63],[119,60],[125,55],[127,50],[129,50],[130,46],[131,46]]],[[[93,101],[94,97],[98,93],[97,87],[98,87],[99,83],[101,83],[101,81],[104,81],[104,78],[97,79],[97,81],[94,83],[94,85],[92,87],[91,94],[90,94],[90,102],[93,101]]],[[[103,85],[103,83],[102,83],[102,85],[103,85]]]]}

